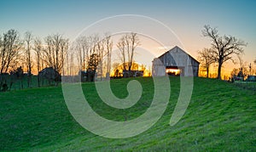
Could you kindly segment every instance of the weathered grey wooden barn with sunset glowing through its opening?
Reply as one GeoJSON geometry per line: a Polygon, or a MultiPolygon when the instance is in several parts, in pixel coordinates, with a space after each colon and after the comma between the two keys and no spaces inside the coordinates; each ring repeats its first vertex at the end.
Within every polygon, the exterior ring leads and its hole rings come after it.
{"type": "Polygon", "coordinates": [[[177,46],[153,60],[152,76],[198,76],[200,62],[177,46]]]}

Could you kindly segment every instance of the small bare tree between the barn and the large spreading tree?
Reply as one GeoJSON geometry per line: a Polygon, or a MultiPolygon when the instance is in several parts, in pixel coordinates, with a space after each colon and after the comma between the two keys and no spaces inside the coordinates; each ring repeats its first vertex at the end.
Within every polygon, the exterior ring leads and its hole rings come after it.
{"type": "Polygon", "coordinates": [[[211,58],[211,52],[211,48],[204,48],[198,52],[201,66],[207,70],[207,78],[209,77],[210,66],[215,62],[214,59],[211,58]]]}

